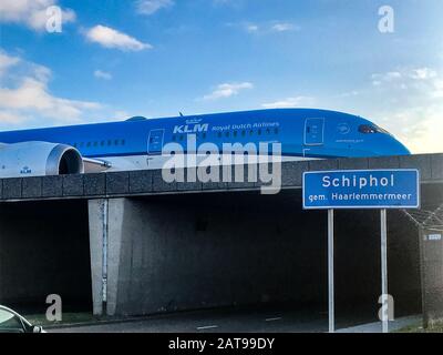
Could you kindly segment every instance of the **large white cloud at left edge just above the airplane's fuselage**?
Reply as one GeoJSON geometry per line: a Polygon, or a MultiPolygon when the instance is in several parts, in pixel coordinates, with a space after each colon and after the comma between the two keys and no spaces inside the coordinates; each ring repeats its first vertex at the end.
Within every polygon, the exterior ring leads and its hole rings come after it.
{"type": "Polygon", "coordinates": [[[17,124],[32,119],[72,123],[80,121],[85,112],[101,108],[96,102],[70,100],[51,94],[48,87],[51,79],[50,69],[22,59],[17,59],[18,62],[18,72],[12,72],[11,67],[6,72],[11,84],[0,84],[1,123],[17,124]]]}

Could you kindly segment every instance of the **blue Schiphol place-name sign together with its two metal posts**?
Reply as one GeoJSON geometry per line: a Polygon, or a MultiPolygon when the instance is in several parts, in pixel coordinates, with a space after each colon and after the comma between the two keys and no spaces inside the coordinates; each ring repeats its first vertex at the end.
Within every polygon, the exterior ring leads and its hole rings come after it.
{"type": "Polygon", "coordinates": [[[388,294],[387,209],[420,209],[420,172],[413,169],[341,170],[303,173],[303,210],[328,210],[328,305],[329,332],[334,324],[333,214],[334,210],[380,210],[381,288],[380,318],[383,333],[389,332],[391,315],[388,294]]]}

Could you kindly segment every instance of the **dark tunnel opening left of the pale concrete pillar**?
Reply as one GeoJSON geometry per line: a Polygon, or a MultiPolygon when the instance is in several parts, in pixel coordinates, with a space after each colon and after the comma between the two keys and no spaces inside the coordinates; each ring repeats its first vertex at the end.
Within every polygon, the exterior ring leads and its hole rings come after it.
{"type": "Polygon", "coordinates": [[[0,204],[0,304],[45,314],[55,294],[62,311],[91,312],[86,201],[0,204]]]}

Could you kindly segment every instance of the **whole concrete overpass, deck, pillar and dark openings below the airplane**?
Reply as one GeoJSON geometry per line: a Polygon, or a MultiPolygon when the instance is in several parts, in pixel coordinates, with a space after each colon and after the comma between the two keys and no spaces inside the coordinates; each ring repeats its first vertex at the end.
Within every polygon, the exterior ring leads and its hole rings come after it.
{"type": "MultiPolygon", "coordinates": [[[[260,195],[247,176],[168,184],[161,171],[4,179],[0,303],[40,304],[55,293],[107,315],[270,303],[326,310],[326,213],[301,210],[302,173],[402,168],[421,171],[423,206],[443,202],[443,154],[284,163],[278,195],[260,195]]],[[[339,310],[379,307],[378,219],[337,213],[339,310]]],[[[390,211],[399,312],[421,308],[418,235],[390,211]]]]}

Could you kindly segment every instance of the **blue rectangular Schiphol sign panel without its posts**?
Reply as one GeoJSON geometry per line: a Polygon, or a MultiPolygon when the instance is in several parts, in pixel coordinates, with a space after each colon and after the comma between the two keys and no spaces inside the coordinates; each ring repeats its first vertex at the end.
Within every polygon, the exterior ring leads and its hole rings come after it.
{"type": "Polygon", "coordinates": [[[303,209],[419,209],[418,170],[306,172],[303,209]]]}

